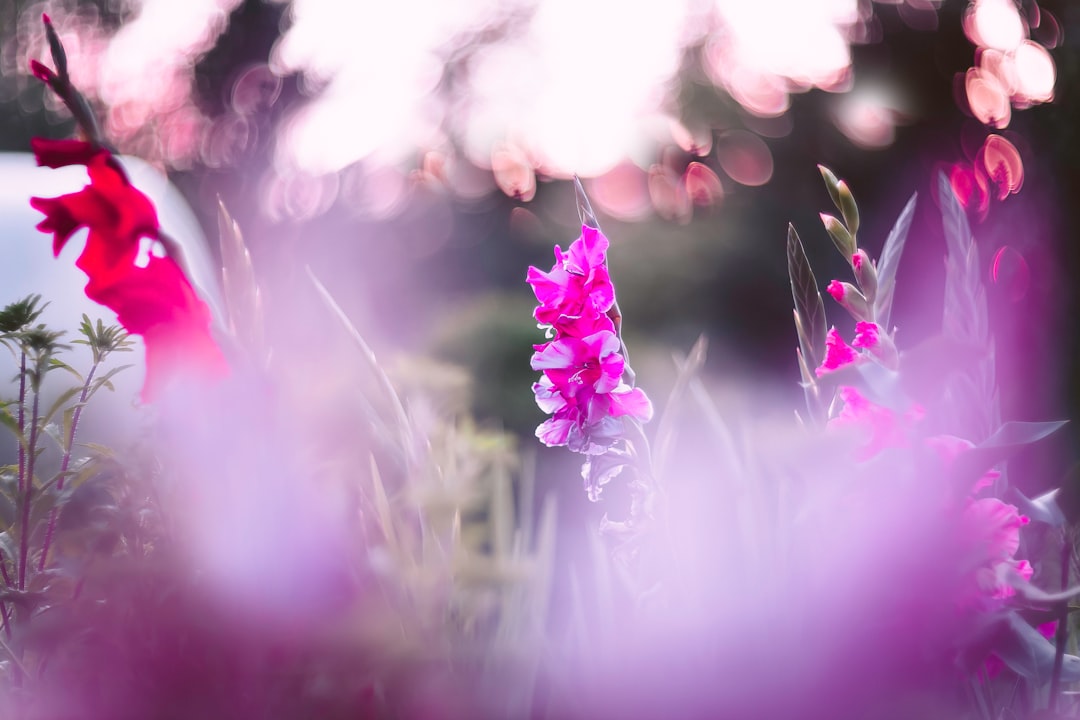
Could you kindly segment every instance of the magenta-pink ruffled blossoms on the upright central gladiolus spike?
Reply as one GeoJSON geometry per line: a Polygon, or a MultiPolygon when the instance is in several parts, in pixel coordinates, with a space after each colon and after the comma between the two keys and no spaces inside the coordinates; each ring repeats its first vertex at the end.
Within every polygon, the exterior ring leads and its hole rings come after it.
{"type": "Polygon", "coordinates": [[[555,246],[550,272],[530,267],[527,276],[539,302],[534,316],[553,332],[551,341],[534,347],[532,369],[543,376],[532,392],[552,416],[537,427],[537,437],[589,456],[607,452],[623,436],[624,418],[652,417],[649,398],[622,379],[622,342],[609,316],[615,287],[607,249],[599,230],[582,226],[565,253],[555,246]]]}

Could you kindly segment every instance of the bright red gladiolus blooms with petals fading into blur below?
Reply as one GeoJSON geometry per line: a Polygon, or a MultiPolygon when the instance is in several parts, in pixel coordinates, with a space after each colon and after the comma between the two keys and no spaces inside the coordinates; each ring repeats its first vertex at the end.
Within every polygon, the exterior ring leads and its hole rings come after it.
{"type": "Polygon", "coordinates": [[[53,233],[53,255],[87,228],[76,266],[86,273],[86,297],[117,313],[146,343],[143,399],[151,400],[178,371],[218,378],[228,371],[211,335],[211,313],[160,243],[153,204],[132,187],[104,148],[81,140],[31,141],[39,165],[85,165],[90,185],[59,198],[31,198],[45,215],[38,230],[53,233]]]}

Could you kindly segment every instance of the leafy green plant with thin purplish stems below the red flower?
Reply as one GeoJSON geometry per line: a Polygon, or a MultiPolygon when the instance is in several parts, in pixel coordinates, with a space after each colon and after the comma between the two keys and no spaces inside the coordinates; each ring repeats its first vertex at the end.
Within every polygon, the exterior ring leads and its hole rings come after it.
{"type": "Polygon", "coordinates": [[[37,322],[45,307],[40,300],[30,296],[0,310],[0,342],[17,367],[17,394],[0,400],[0,423],[18,451],[17,463],[0,467],[0,636],[11,660],[6,680],[17,684],[44,662],[32,651],[41,616],[55,614],[80,582],[71,567],[50,565],[53,541],[68,543],[72,533],[93,526],[93,536],[84,536],[82,545],[102,551],[102,539],[114,535],[111,524],[103,521],[112,505],[102,485],[108,460],[93,450],[76,458],[75,438],[86,403],[100,388],[111,389],[110,378],[121,369],[97,375],[100,364],[131,345],[119,327],[94,325],[83,316],[83,339],[75,342],[89,345],[93,355],[83,376],[57,356],[69,350],[59,341],[64,334],[37,322]],[[55,369],[67,370],[78,384],[45,388],[45,376],[55,369]],[[51,450],[45,437],[53,440],[51,450]],[[50,466],[54,470],[41,472],[50,466]]]}

